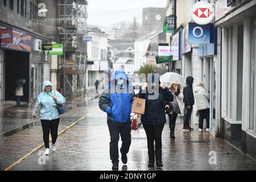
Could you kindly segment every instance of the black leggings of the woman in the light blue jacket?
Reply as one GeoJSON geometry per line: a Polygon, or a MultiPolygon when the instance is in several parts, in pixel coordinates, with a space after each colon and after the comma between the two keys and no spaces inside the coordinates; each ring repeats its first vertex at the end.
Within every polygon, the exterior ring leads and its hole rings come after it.
{"type": "Polygon", "coordinates": [[[59,127],[60,118],[53,119],[52,121],[41,119],[43,127],[43,139],[44,146],[49,148],[49,133],[51,131],[52,143],[55,144],[58,137],[58,127],[59,127]]]}

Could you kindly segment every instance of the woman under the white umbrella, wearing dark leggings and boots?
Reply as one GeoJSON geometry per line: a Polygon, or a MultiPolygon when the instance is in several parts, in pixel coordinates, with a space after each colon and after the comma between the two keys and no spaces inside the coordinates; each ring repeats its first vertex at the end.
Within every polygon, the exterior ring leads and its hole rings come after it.
{"type": "Polygon", "coordinates": [[[170,127],[170,138],[175,139],[175,125],[176,125],[176,118],[177,115],[184,115],[184,109],[183,109],[183,92],[182,87],[179,84],[178,81],[174,81],[171,83],[171,85],[168,86],[170,89],[170,92],[174,96],[174,101],[167,102],[166,109],[170,110],[170,113],[168,113],[169,117],[169,127],[170,127]]]}

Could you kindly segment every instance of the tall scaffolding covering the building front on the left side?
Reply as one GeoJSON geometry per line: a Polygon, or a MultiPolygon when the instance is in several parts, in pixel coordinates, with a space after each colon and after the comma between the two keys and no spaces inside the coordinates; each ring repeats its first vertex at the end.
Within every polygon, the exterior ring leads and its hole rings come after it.
{"type": "Polygon", "coordinates": [[[64,96],[77,97],[85,93],[86,43],[83,36],[87,20],[86,0],[58,0],[59,42],[64,54],[58,64],[58,90],[64,96]]]}

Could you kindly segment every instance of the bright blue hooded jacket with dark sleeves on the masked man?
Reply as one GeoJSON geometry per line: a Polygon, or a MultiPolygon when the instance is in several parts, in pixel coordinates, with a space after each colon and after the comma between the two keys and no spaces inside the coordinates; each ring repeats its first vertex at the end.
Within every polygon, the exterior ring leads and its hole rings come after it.
{"type": "Polygon", "coordinates": [[[129,79],[124,71],[115,71],[110,78],[109,88],[101,94],[99,106],[102,111],[108,114],[108,119],[118,122],[130,122],[131,107],[133,106],[134,91],[129,85],[129,79]],[[118,86],[115,83],[117,78],[125,80],[124,84],[118,86]],[[114,90],[117,88],[117,90],[114,90]],[[112,91],[114,91],[112,93],[112,91]]]}

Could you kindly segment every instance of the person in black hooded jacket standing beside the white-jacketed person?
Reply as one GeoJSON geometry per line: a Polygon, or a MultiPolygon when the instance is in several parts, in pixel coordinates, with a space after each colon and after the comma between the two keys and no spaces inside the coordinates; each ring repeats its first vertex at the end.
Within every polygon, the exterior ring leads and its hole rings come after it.
{"type": "Polygon", "coordinates": [[[188,76],[186,79],[186,84],[187,86],[184,87],[183,89],[183,102],[184,102],[184,126],[183,126],[183,131],[191,131],[193,130],[189,126],[189,119],[191,118],[191,114],[193,111],[193,105],[195,104],[195,98],[193,94],[193,81],[194,78],[192,76],[188,76]]]}

